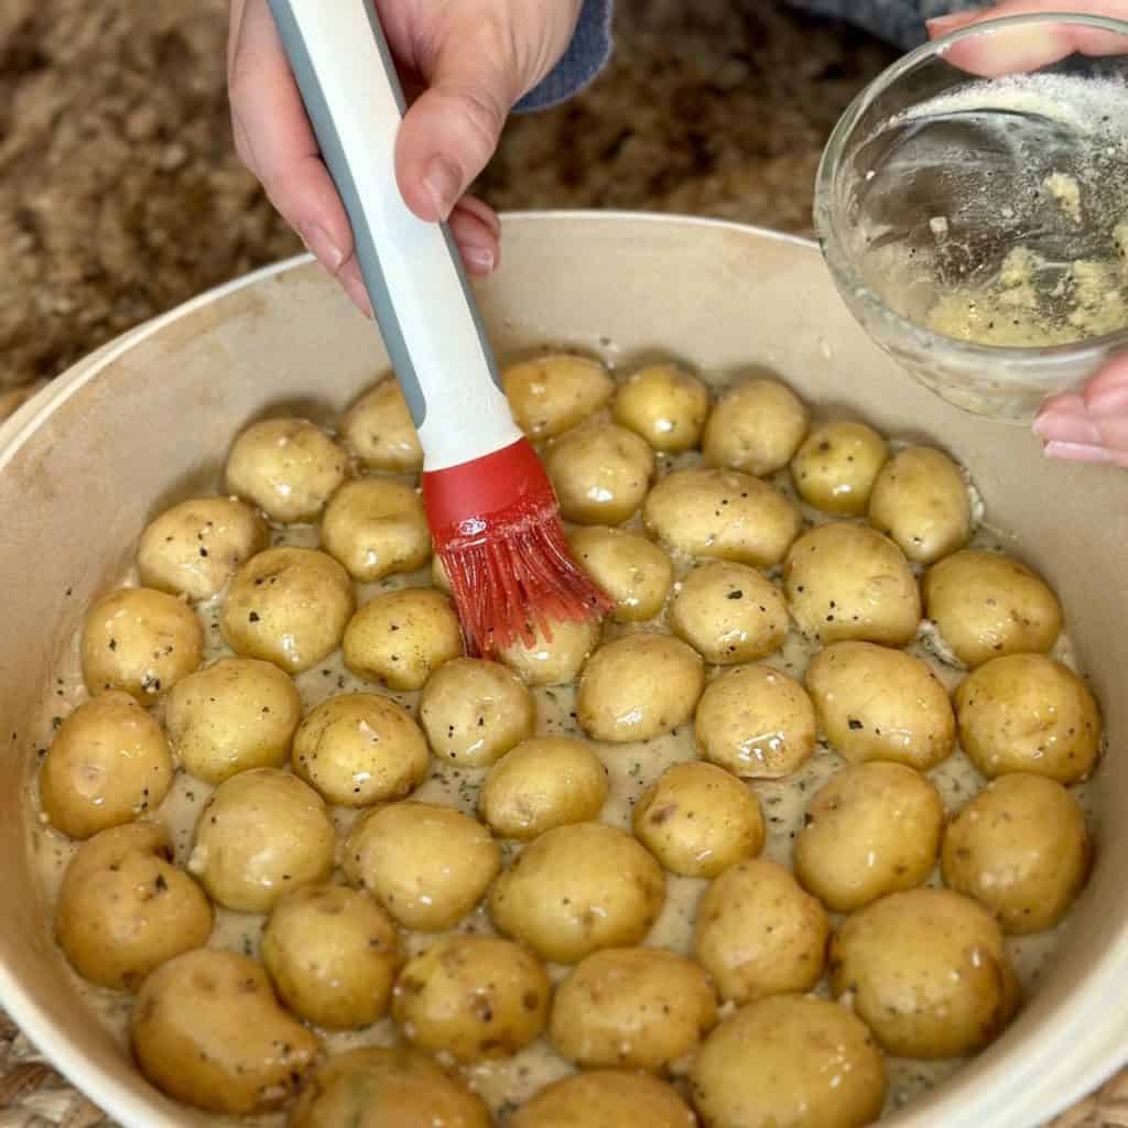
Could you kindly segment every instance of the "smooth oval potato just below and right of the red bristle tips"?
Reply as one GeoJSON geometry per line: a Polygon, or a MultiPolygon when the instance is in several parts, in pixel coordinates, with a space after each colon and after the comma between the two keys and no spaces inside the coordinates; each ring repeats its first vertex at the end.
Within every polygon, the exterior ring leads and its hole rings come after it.
{"type": "Polygon", "coordinates": [[[684,642],[633,634],[600,646],[588,660],[576,694],[580,725],[611,743],[650,740],[694,715],[705,667],[684,642]]]}

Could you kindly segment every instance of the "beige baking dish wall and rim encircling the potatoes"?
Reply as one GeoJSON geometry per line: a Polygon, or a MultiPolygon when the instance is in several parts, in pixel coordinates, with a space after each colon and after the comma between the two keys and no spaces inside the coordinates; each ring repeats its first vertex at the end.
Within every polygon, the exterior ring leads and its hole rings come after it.
{"type": "MultiPolygon", "coordinates": [[[[614,214],[506,221],[505,264],[479,289],[503,356],[545,342],[616,364],[686,354],[706,372],[749,362],[897,438],[946,447],[993,525],[1014,536],[1069,610],[1107,712],[1099,863],[1059,962],[1011,1031],[887,1121],[1024,1128],[1128,1058],[1128,476],[1042,459],[1025,432],[964,415],[901,373],[855,326],[812,245],[731,224],[614,214]]],[[[372,326],[308,262],[205,296],[104,351],[0,429],[0,1003],[130,1128],[205,1125],[141,1081],[61,975],[33,892],[20,805],[27,735],[59,649],[161,505],[214,479],[231,435],[280,409],[341,411],[386,363],[372,326]],[[64,594],[65,593],[65,594],[64,594]]]]}

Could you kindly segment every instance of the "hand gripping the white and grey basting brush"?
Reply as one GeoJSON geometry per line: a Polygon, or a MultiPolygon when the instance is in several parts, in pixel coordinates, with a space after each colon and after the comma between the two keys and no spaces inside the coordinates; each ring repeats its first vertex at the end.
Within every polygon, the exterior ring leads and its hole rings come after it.
{"type": "MultiPolygon", "coordinates": [[[[493,156],[513,104],[564,53],[581,0],[376,0],[411,103],[396,179],[420,219],[450,221],[475,274],[497,265],[501,226],[464,195],[493,156]]],[[[235,143],[271,203],[368,315],[343,204],[290,73],[267,0],[231,0],[228,91],[235,143]]]]}

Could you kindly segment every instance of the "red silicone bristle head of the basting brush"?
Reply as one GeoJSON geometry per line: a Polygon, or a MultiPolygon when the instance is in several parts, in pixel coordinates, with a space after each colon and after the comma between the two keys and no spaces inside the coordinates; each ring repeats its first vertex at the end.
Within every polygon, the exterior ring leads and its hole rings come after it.
{"type": "Polygon", "coordinates": [[[423,504],[472,654],[554,622],[598,619],[611,602],[580,571],[552,483],[527,439],[423,475],[423,504]]]}

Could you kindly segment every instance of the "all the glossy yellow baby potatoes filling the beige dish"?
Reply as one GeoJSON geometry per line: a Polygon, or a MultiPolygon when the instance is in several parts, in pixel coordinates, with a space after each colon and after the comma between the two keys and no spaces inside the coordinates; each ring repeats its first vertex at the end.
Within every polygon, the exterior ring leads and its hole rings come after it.
{"type": "Polygon", "coordinates": [[[89,698],[38,777],[46,820],[81,840],[62,950],[136,994],[138,1065],[203,1109],[297,1096],[296,1128],[474,1128],[490,1113],[459,1068],[545,1036],[580,1072],[512,1128],[869,1123],[883,1054],[958,1058],[999,1034],[1020,1002],[1004,934],[1050,928],[1084,884],[1067,785],[1094,767],[1100,717],[1049,656],[1058,600],[967,547],[946,455],[812,430],[769,374],[714,400],[676,364],[615,381],[546,354],[505,386],[609,620],[465,656],[441,569],[416,574],[421,451],[393,379],[336,437],[248,426],[226,495],[157,517],[140,585],[86,616],[89,698]],[[314,522],[319,548],[271,547],[314,522]],[[202,664],[194,603],[233,656],[202,664]],[[954,699],[905,649],[923,622],[967,671],[954,699]],[[765,661],[794,632],[817,651],[803,684],[765,661]],[[338,649],[371,690],[302,715],[296,677],[338,649]],[[530,687],[573,682],[587,739],[546,734],[530,687]],[[605,764],[690,725],[698,758],[641,795],[634,834],[600,821],[605,764]],[[786,778],[820,740],[845,766],[788,870],[758,856],[749,781],[786,778]],[[949,818],[927,773],[957,740],[990,782],[949,818]],[[451,766],[484,777],[477,818],[409,797],[451,766]],[[214,787],[183,866],[161,817],[177,772],[214,787]],[[520,844],[504,866],[501,840],[520,844]],[[688,954],[645,946],[667,874],[700,879],[688,954]],[[465,931],[483,901],[496,935],[465,931]],[[217,906],[266,917],[261,962],[206,946],[217,906]],[[418,934],[434,938],[406,958],[418,934]],[[396,1046],[325,1059],[319,1030],[389,1013],[396,1046]]]}

